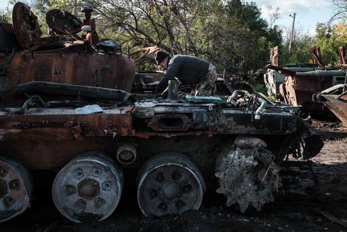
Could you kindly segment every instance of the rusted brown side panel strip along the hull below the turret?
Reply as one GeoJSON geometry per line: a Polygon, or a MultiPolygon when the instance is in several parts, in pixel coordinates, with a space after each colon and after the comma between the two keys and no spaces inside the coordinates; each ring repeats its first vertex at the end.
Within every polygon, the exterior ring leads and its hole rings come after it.
{"type": "Polygon", "coordinates": [[[83,140],[135,134],[129,114],[1,115],[0,128],[0,141],[83,140]]]}

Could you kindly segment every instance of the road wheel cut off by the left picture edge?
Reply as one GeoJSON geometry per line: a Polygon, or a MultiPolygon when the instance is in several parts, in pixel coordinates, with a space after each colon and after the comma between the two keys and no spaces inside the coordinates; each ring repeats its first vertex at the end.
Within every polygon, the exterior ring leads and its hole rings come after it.
{"type": "Polygon", "coordinates": [[[24,166],[0,157],[0,222],[24,212],[30,206],[31,194],[31,176],[24,166]]]}

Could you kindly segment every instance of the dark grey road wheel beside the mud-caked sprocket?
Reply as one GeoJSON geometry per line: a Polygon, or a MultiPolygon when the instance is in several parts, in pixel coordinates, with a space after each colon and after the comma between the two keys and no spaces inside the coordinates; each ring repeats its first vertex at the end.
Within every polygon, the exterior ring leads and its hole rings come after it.
{"type": "Polygon", "coordinates": [[[137,174],[137,183],[137,201],[145,216],[196,210],[206,189],[196,165],[176,152],[147,160],[137,174]]]}

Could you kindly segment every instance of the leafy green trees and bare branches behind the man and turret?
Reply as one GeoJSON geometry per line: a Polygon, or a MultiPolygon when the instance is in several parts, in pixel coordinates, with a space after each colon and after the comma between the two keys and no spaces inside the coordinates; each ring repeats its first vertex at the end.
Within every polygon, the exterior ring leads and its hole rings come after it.
{"type": "Polygon", "coordinates": [[[48,10],[81,19],[80,8],[87,5],[94,7],[99,38],[131,51],[157,45],[171,55],[208,60],[219,71],[238,72],[243,60],[247,69],[263,68],[269,49],[282,43],[280,28],[270,27],[256,4],[243,0],[34,0],[30,7],[46,33],[48,10]]]}

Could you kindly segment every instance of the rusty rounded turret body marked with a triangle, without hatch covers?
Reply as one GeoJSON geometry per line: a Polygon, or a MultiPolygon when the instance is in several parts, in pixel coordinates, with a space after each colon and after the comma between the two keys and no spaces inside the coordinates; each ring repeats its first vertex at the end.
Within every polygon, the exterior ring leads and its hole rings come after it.
{"type": "MultiPolygon", "coordinates": [[[[20,83],[44,81],[97,86],[130,92],[135,64],[124,54],[87,53],[81,41],[34,46],[13,55],[1,78],[1,103],[15,105],[14,88],[20,83]]],[[[8,57],[3,58],[8,59],[8,57]]]]}

